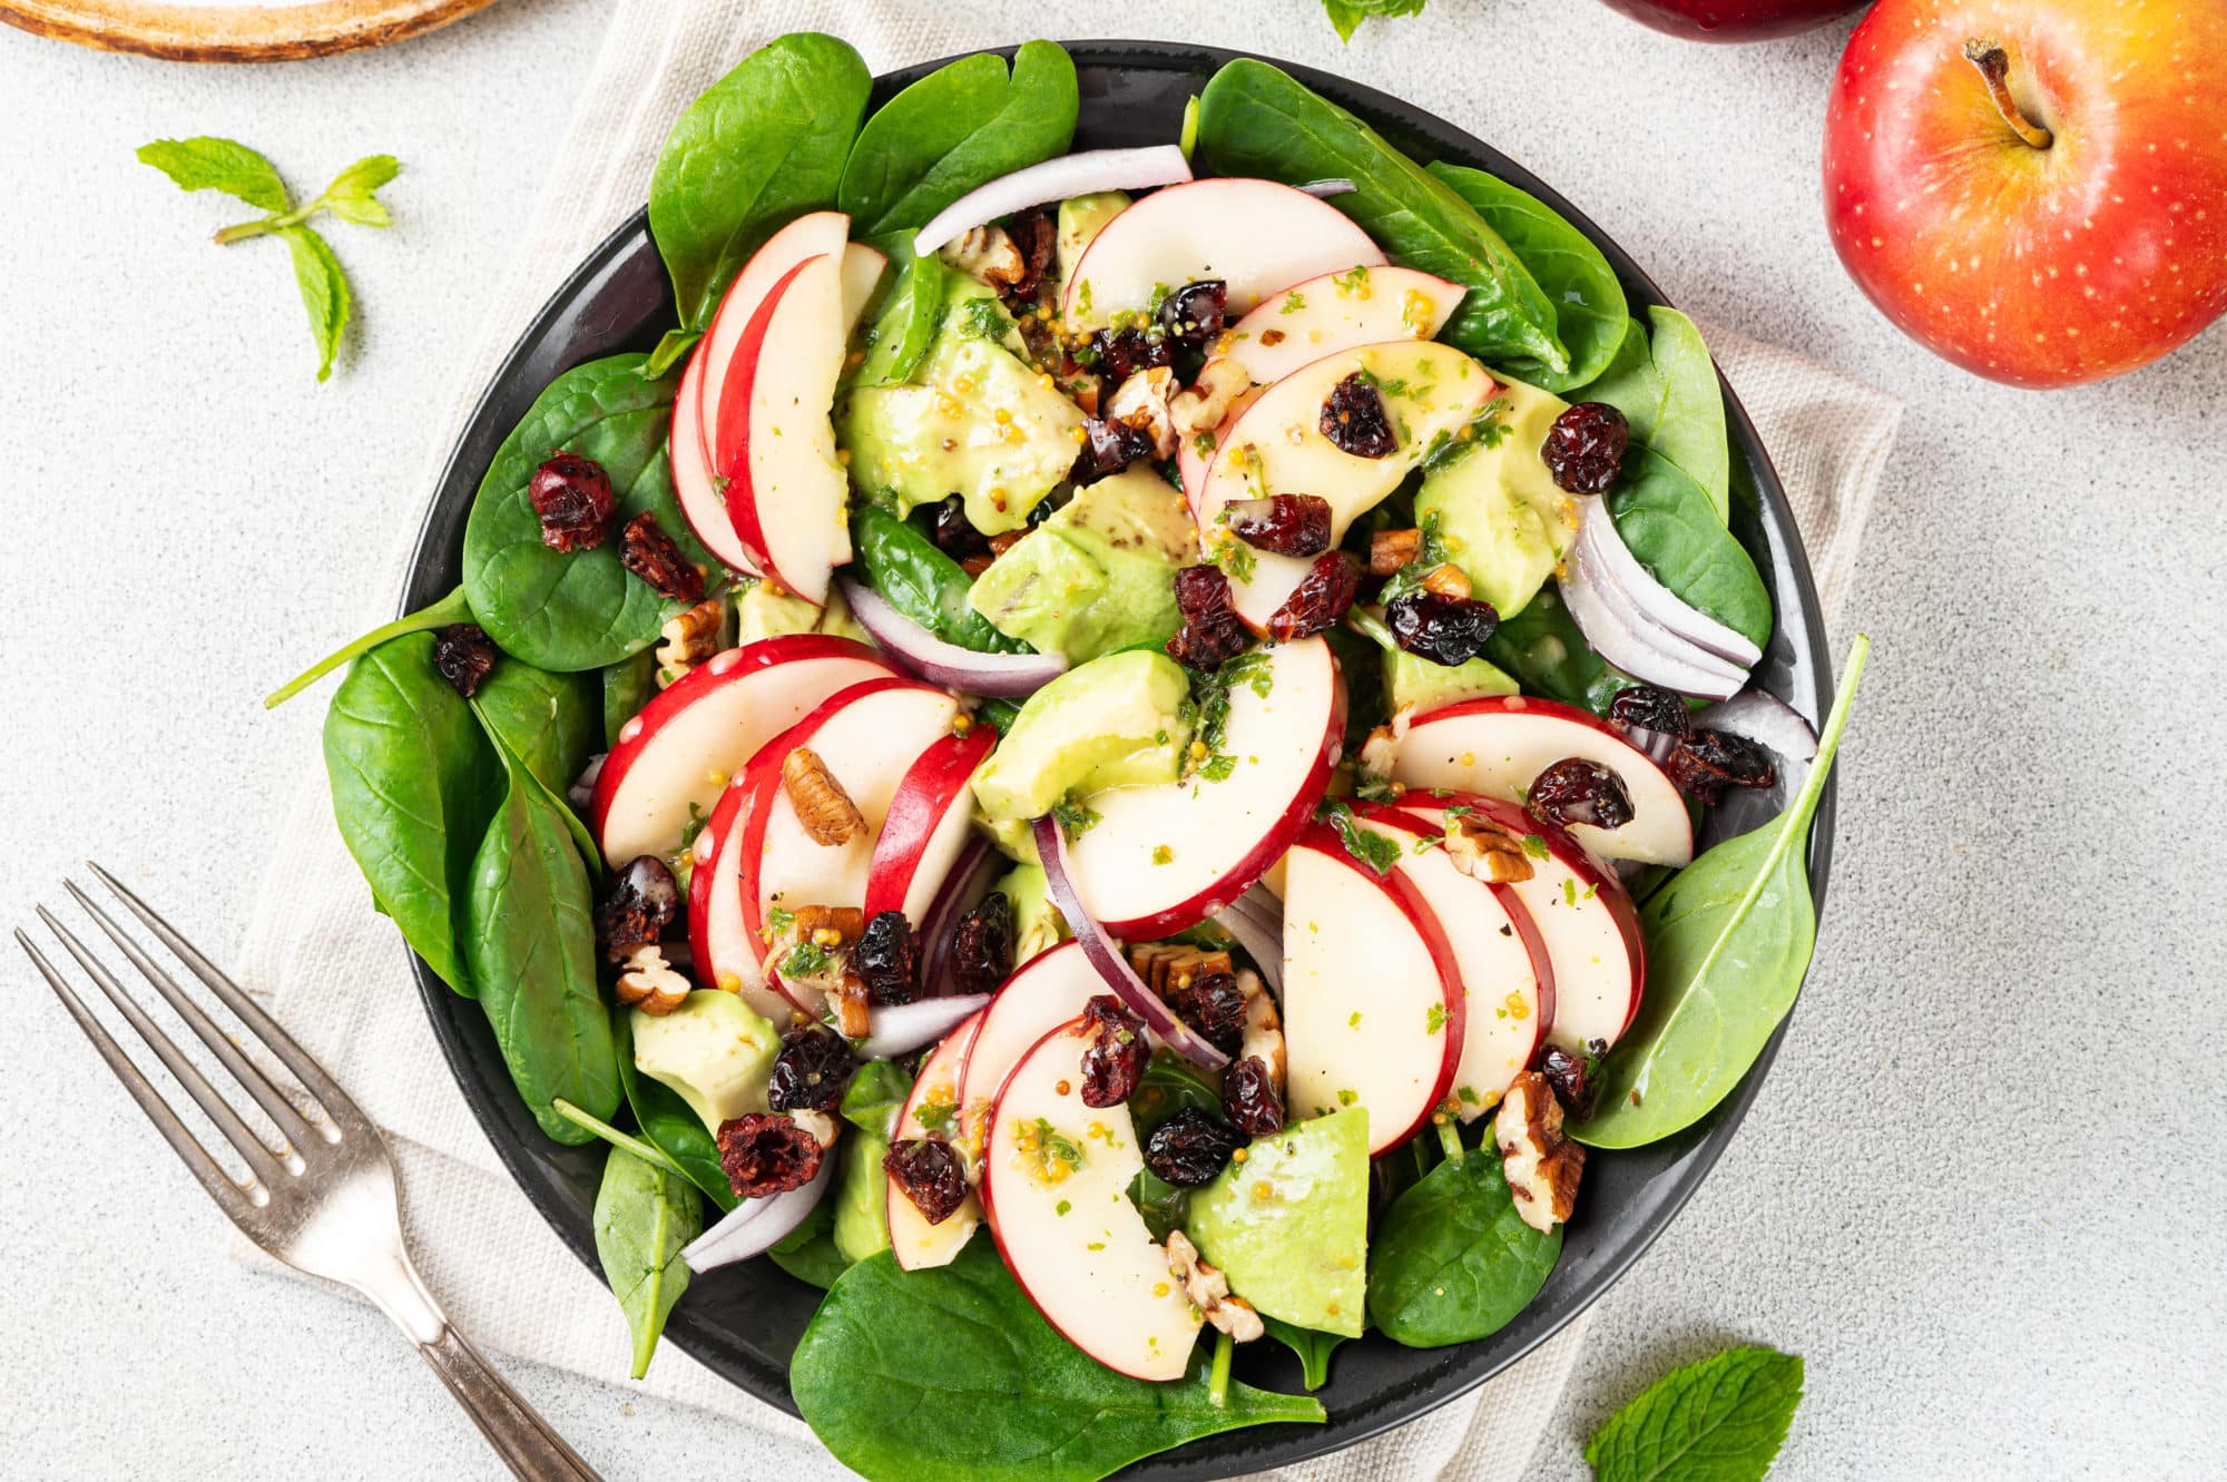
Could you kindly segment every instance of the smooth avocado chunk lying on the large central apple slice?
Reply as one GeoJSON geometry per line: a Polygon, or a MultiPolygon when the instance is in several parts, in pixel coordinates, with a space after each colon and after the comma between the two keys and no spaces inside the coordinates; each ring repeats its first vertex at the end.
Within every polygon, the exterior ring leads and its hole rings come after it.
{"type": "Polygon", "coordinates": [[[1029,696],[975,770],[982,817],[1038,819],[1069,792],[1176,781],[1189,696],[1183,665],[1147,648],[1067,670],[1029,696]]]}

